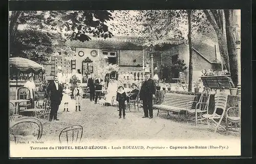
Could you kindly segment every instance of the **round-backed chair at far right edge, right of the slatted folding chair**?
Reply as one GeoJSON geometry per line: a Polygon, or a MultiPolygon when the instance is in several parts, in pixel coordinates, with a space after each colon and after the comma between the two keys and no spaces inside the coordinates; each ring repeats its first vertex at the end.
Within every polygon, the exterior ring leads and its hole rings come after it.
{"type": "Polygon", "coordinates": [[[240,126],[241,116],[240,109],[238,107],[230,107],[226,112],[226,134],[228,133],[228,128],[233,130],[232,124],[234,124],[234,131],[237,131],[237,125],[240,126]],[[230,123],[230,127],[229,127],[230,123]]]}

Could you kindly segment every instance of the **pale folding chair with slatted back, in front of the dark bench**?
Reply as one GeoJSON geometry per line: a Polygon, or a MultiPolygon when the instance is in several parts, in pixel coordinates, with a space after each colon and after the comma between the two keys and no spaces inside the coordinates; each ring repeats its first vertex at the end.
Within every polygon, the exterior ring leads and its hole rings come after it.
{"type": "Polygon", "coordinates": [[[214,125],[214,132],[220,127],[226,131],[225,127],[220,125],[225,114],[227,105],[227,94],[225,92],[216,93],[215,95],[215,109],[212,114],[203,114],[203,118],[207,121],[207,129],[210,129],[210,124],[214,125]]]}

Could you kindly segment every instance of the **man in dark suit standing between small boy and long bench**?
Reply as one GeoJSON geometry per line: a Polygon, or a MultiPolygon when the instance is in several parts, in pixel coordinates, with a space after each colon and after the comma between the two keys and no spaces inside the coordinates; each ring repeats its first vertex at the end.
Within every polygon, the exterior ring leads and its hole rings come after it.
{"type": "Polygon", "coordinates": [[[148,111],[150,113],[150,119],[153,118],[153,105],[152,101],[156,94],[156,83],[150,78],[150,73],[145,74],[145,80],[142,82],[140,89],[140,100],[143,101],[144,116],[142,118],[148,118],[148,111]]]}

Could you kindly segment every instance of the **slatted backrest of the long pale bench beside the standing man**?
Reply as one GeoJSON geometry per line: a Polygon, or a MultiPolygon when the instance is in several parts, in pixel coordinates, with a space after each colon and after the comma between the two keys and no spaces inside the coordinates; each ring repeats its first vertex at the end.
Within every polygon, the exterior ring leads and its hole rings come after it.
{"type": "Polygon", "coordinates": [[[176,93],[166,93],[164,96],[164,100],[162,102],[162,105],[169,105],[173,107],[179,107],[184,108],[186,107],[188,109],[191,109],[195,99],[197,96],[195,95],[183,95],[183,94],[176,94],[176,93]]]}

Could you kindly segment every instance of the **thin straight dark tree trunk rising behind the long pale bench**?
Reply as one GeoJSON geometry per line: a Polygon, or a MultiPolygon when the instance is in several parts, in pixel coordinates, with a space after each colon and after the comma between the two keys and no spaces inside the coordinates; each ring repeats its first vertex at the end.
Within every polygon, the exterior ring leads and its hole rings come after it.
{"type": "Polygon", "coordinates": [[[192,40],[191,40],[191,13],[192,10],[187,10],[188,17],[188,47],[189,47],[189,64],[188,64],[188,91],[192,91],[192,80],[193,80],[193,61],[192,61],[192,40]]]}

